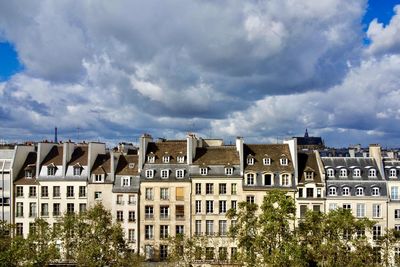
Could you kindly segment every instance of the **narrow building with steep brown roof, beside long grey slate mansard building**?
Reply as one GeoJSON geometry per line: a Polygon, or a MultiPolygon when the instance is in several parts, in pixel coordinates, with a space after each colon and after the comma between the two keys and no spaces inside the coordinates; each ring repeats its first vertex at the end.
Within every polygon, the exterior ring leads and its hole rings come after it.
{"type": "Polygon", "coordinates": [[[301,219],[307,210],[325,212],[325,181],[318,151],[298,152],[297,159],[296,217],[301,219]]]}

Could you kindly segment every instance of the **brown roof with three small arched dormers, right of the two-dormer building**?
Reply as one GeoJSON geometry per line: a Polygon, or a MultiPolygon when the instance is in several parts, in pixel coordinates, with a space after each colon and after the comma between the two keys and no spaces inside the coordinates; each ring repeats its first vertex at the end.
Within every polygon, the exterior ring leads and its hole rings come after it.
{"type": "Polygon", "coordinates": [[[287,171],[293,172],[293,162],[287,144],[244,144],[244,169],[246,171],[287,171]],[[247,164],[247,157],[254,157],[254,165],[247,164]],[[288,165],[282,166],[280,159],[285,156],[288,165]],[[264,165],[263,158],[270,158],[271,164],[264,165]]]}

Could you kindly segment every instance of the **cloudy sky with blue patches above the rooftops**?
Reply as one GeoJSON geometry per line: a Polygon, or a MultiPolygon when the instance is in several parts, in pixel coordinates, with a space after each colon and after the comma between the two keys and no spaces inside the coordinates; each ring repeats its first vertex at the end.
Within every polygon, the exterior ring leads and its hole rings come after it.
{"type": "Polygon", "coordinates": [[[1,1],[0,139],[400,147],[400,1],[1,1]]]}

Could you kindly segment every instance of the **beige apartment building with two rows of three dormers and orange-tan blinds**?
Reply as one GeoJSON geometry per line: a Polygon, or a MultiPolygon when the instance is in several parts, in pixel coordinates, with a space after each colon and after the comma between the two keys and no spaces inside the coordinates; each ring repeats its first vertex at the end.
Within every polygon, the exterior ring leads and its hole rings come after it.
{"type": "Polygon", "coordinates": [[[140,139],[140,252],[166,260],[167,239],[190,234],[191,183],[186,140],[140,139]]]}

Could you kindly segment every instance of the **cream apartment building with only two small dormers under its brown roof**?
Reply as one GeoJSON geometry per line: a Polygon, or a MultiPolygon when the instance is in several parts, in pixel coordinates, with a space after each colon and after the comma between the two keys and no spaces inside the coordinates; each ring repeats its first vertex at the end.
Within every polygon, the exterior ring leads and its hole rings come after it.
{"type": "Polygon", "coordinates": [[[196,260],[223,263],[235,256],[236,244],[228,238],[227,210],[241,201],[243,139],[235,145],[222,140],[188,137],[192,180],[192,235],[204,236],[205,248],[196,260]]]}

